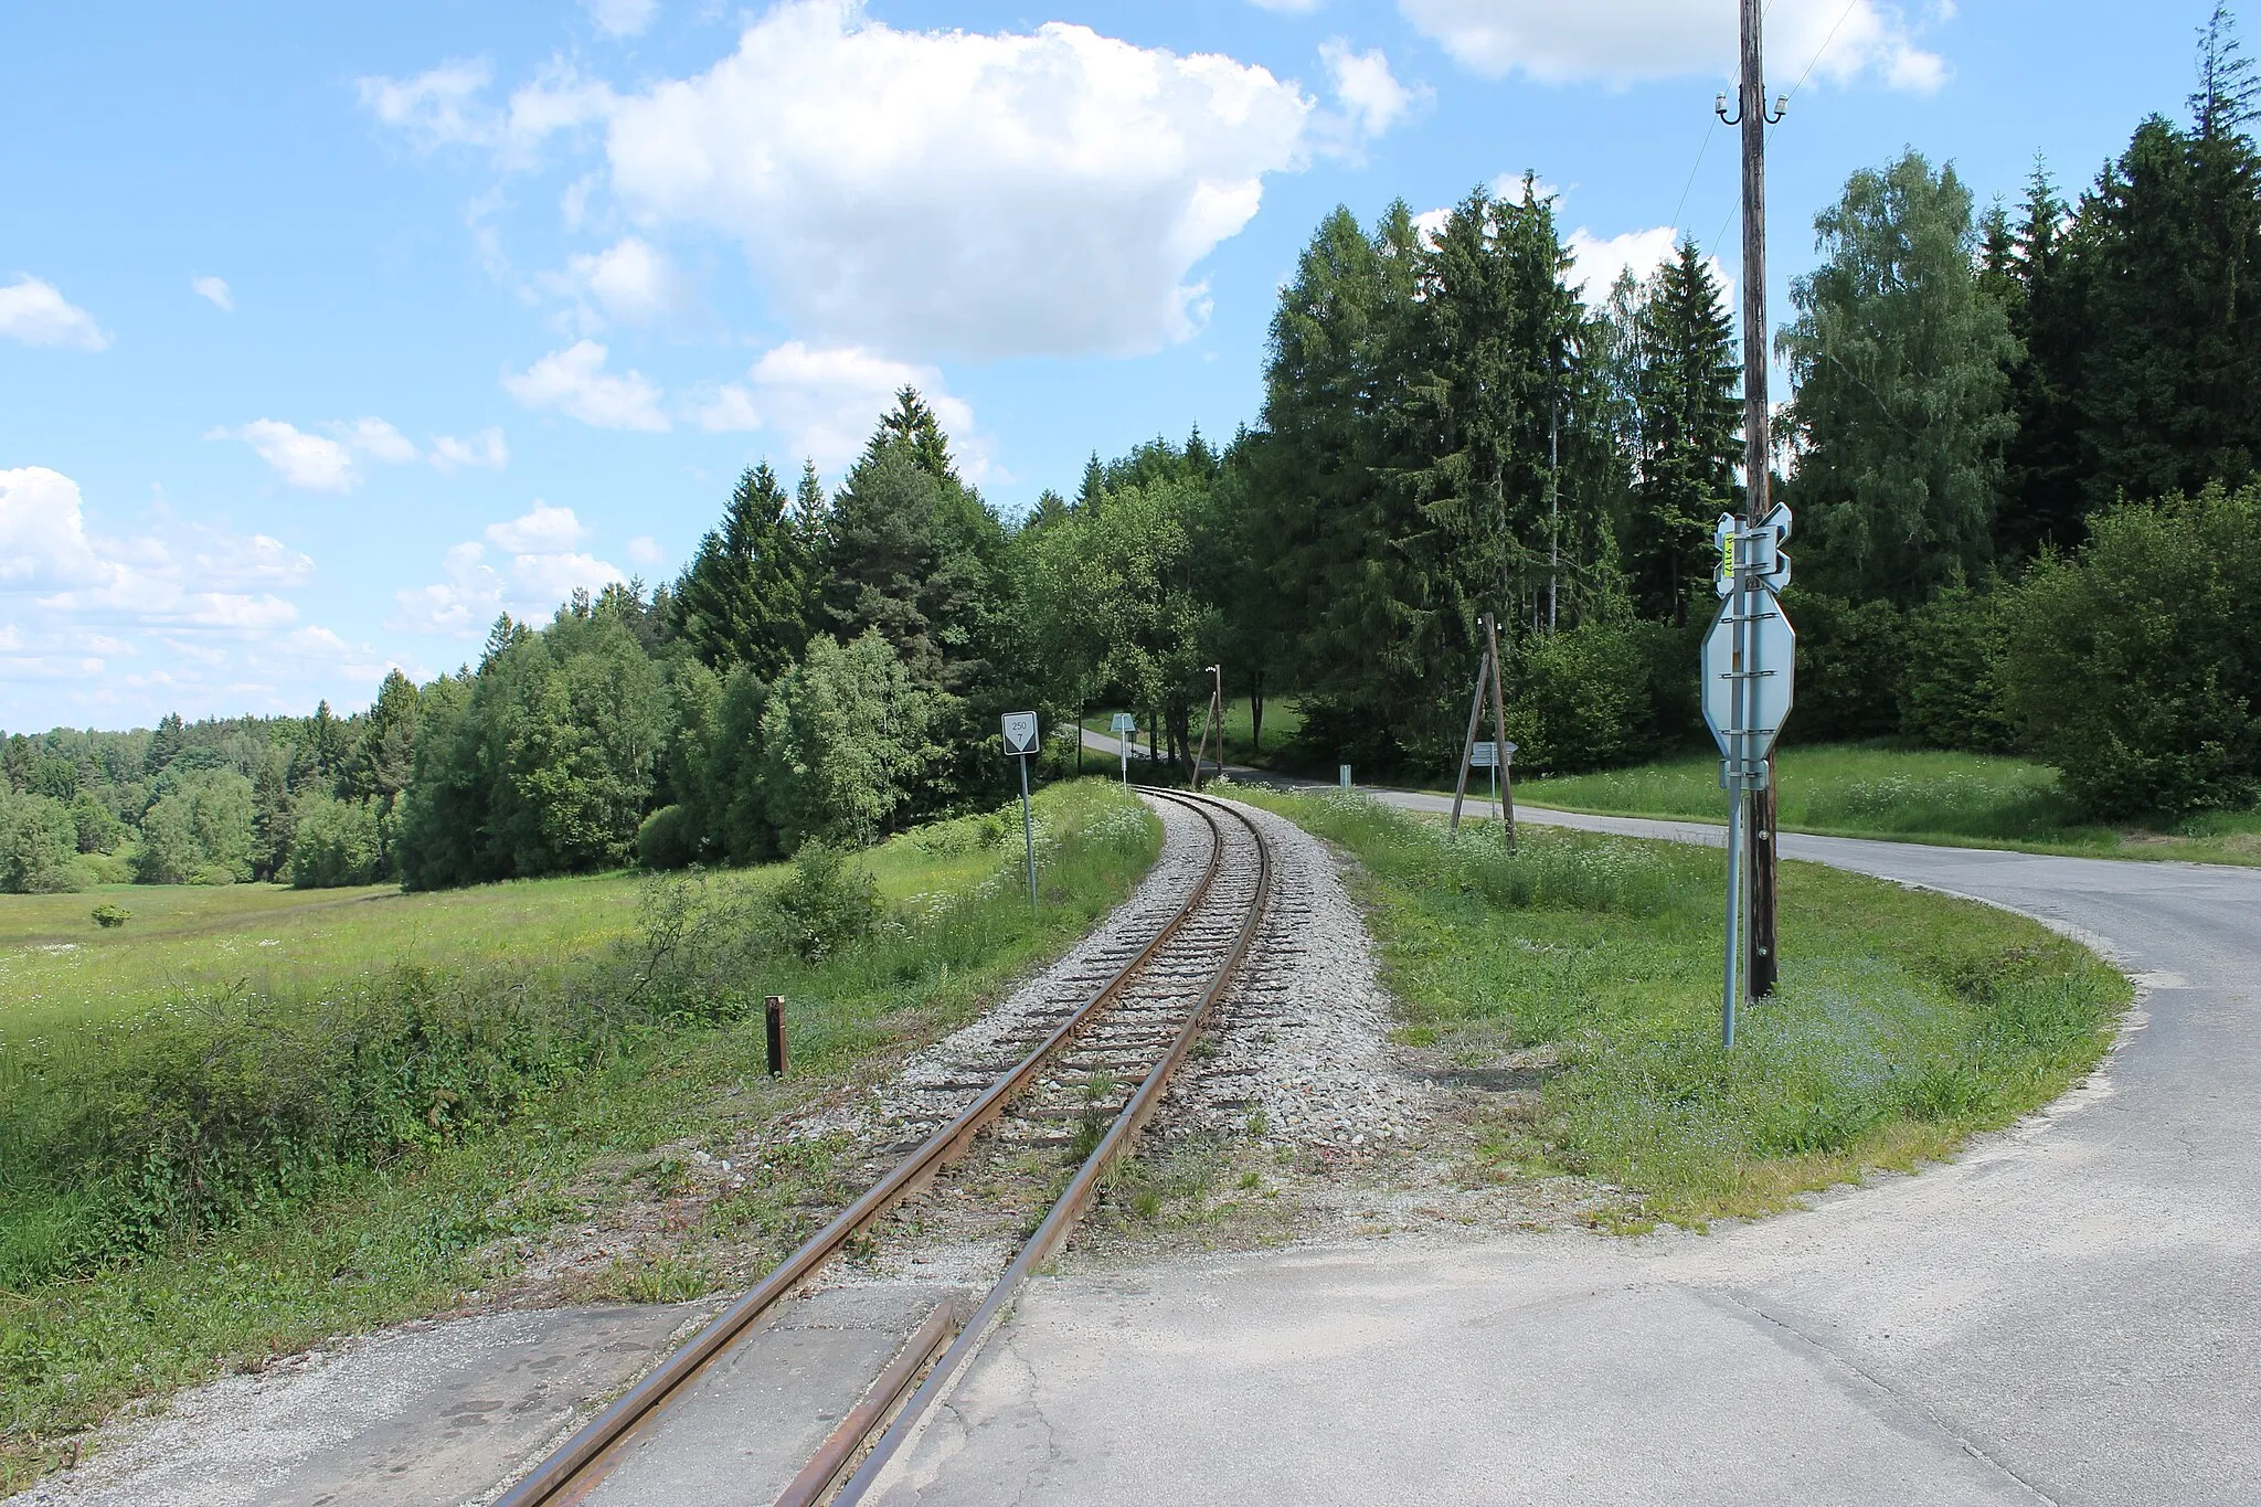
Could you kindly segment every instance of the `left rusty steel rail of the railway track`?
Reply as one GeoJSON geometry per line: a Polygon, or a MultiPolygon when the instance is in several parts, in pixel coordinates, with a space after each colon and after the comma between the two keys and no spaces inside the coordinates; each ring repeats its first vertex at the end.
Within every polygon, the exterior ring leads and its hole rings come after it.
{"type": "MultiPolygon", "coordinates": [[[[1153,960],[1162,947],[1185,929],[1201,901],[1210,897],[1210,888],[1216,883],[1216,874],[1223,870],[1225,861],[1225,834],[1216,818],[1210,813],[1212,802],[1194,802],[1185,795],[1171,791],[1155,791],[1155,795],[1169,795],[1171,800],[1194,807],[1201,818],[1210,825],[1214,845],[1210,850],[1210,863],[1201,874],[1201,881],[1187,895],[1185,904],[1169,917],[1169,922],[1153,935],[1146,947],[1142,947],[1128,962],[1124,962],[1106,985],[1099,987],[1088,1001],[1083,1001],[1074,1014],[1060,1021],[1051,1035],[1045,1037],[1026,1057],[1022,1057],[1004,1078],[993,1082],[981,1091],[972,1105],[968,1105],[954,1121],[929,1134],[918,1150],[895,1164],[886,1177],[873,1184],[861,1197],[848,1204],[830,1225],[809,1236],[800,1249],[787,1256],[769,1277],[764,1277],[753,1290],[724,1308],[714,1319],[708,1322],[683,1349],[667,1356],[656,1365],[642,1380],[620,1394],[610,1408],[590,1419],[572,1439],[561,1444],[552,1455],[534,1466],[518,1484],[504,1491],[495,1507],[563,1507],[565,1502],[579,1500],[595,1480],[590,1475],[601,1475],[599,1462],[604,1462],[613,1446],[635,1432],[642,1423],[651,1421],[681,1390],[683,1385],[703,1371],[717,1356],[721,1356],[755,1319],[778,1306],[787,1295],[794,1292],[803,1281],[816,1274],[832,1256],[841,1252],[864,1227],[882,1218],[898,1202],[916,1193],[920,1186],[934,1179],[941,1168],[956,1161],[965,1148],[1004,1114],[1006,1105],[1022,1094],[1045,1069],[1045,1064],[1072,1044],[1085,1026],[1090,1026],[1108,1003],[1124,992],[1124,987],[1153,960]]],[[[1246,818],[1244,818],[1246,820],[1246,818]]],[[[1262,838],[1259,838],[1262,843],[1262,838]]],[[[1266,854],[1268,863],[1268,854],[1266,854]]],[[[1262,908],[1262,888],[1257,890],[1257,908],[1262,908]]],[[[1246,938],[1244,938],[1246,947],[1246,938]]],[[[1133,1100],[1137,1103],[1137,1100],[1133,1100]]],[[[1110,1132],[1112,1139],[1112,1132],[1110,1132]]],[[[1042,1231],[1040,1231],[1042,1234],[1042,1231]]]]}

